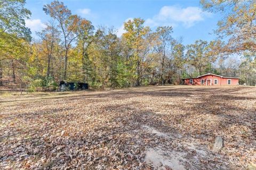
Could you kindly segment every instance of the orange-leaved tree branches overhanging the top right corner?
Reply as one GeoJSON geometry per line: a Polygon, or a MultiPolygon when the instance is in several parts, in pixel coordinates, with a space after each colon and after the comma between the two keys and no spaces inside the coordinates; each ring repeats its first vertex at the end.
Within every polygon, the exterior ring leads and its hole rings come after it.
{"type": "MultiPolygon", "coordinates": [[[[201,0],[206,11],[222,12],[222,19],[218,22],[215,33],[220,39],[226,38],[228,42],[221,50],[229,54],[256,53],[256,5],[254,0],[248,1],[218,1],[201,0]]],[[[256,61],[253,57],[252,61],[256,61]]],[[[256,72],[256,69],[253,70],[256,72]]]]}

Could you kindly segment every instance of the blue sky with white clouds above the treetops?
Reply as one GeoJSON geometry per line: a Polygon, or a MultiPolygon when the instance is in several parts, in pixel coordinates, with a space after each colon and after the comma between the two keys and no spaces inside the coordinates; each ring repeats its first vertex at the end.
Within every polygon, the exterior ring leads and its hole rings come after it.
{"type": "MultiPolygon", "coordinates": [[[[142,18],[152,30],[160,25],[173,27],[173,37],[183,37],[183,44],[194,43],[197,39],[212,40],[213,30],[217,28],[219,14],[204,12],[199,0],[180,1],[62,1],[73,14],[90,20],[98,25],[114,26],[117,35],[124,32],[123,23],[127,19],[142,18]]],[[[43,12],[43,5],[51,1],[27,0],[26,7],[31,11],[26,21],[32,32],[40,31],[50,18],[43,12]]],[[[35,33],[33,33],[35,36],[35,33]]]]}

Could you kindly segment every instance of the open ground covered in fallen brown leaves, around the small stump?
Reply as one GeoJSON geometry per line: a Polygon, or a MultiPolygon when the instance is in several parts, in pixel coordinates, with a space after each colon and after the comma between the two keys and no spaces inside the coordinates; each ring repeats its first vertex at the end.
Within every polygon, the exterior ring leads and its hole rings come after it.
{"type": "Polygon", "coordinates": [[[5,96],[0,169],[252,169],[255,122],[253,87],[5,96]]]}

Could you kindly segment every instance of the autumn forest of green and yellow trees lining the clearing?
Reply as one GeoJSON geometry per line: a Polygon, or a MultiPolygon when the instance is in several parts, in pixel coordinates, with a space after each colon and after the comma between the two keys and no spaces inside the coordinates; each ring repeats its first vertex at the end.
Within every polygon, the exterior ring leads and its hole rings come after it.
{"type": "Polygon", "coordinates": [[[205,73],[255,86],[255,2],[200,3],[205,11],[225,13],[214,30],[217,38],[183,45],[171,26],[152,29],[142,18],[124,22],[118,37],[114,27],[92,25],[59,1],[42,6],[51,20],[31,38],[26,1],[1,0],[0,88],[56,90],[67,80],[114,89],[182,84],[205,73]]]}

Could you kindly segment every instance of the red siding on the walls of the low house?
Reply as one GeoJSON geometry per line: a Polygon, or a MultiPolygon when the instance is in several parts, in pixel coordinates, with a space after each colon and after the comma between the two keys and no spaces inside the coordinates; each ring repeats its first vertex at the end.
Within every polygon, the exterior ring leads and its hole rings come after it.
{"type": "Polygon", "coordinates": [[[204,85],[208,82],[208,86],[225,86],[225,85],[237,85],[239,79],[235,78],[221,78],[216,75],[204,75],[203,77],[199,78],[191,78],[193,80],[193,84],[190,84],[190,79],[185,79],[185,85],[204,85]],[[228,80],[231,80],[231,84],[228,84],[228,80]],[[201,84],[201,80],[204,80],[204,83],[201,84]],[[217,84],[214,84],[214,80],[217,80],[217,84]]]}

